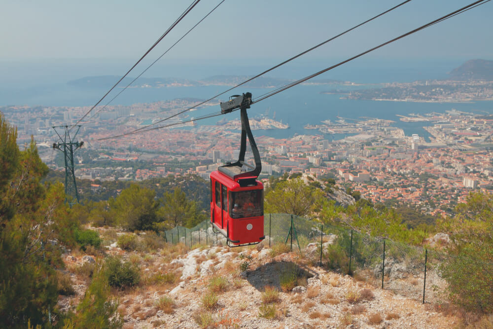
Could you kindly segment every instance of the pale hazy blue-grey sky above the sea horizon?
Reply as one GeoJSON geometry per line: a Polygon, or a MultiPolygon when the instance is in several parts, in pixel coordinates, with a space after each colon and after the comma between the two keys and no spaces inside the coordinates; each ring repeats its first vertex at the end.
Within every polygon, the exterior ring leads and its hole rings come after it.
{"type": "MultiPolygon", "coordinates": [[[[0,60],[137,60],[191,0],[0,0],[0,60]]],[[[157,58],[219,0],[202,0],[153,51],[157,58]]],[[[226,0],[162,61],[284,59],[401,1],[226,0]]],[[[413,0],[312,58],[352,56],[472,1],[413,0]]],[[[377,50],[388,58],[493,59],[493,1],[377,50]]]]}

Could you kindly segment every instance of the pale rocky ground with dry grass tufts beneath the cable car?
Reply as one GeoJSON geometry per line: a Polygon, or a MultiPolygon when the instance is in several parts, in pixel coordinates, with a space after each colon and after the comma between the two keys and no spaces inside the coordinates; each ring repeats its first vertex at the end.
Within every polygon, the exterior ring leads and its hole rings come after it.
{"type": "Polygon", "coordinates": [[[105,242],[105,255],[65,256],[75,294],[60,306],[73,308],[80,300],[90,281],[84,268],[121,255],[139,264],[142,278],[136,288],[114,291],[124,328],[453,328],[459,322],[436,312],[436,305],[311,266],[281,245],[188,250],[179,244],[126,252],[105,242]],[[171,279],[153,279],[164,274],[171,279]]]}

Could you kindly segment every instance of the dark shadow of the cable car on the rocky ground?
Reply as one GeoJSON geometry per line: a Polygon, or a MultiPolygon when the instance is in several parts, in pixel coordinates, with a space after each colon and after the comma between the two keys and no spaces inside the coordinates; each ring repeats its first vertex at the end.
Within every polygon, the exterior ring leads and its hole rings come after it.
{"type": "Polygon", "coordinates": [[[272,286],[281,290],[281,277],[283,274],[294,273],[298,279],[298,283],[295,286],[306,285],[306,280],[317,274],[308,267],[291,261],[273,261],[247,273],[246,280],[260,292],[265,290],[265,286],[272,286]]]}

